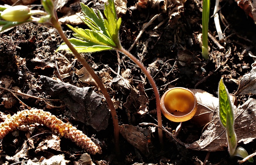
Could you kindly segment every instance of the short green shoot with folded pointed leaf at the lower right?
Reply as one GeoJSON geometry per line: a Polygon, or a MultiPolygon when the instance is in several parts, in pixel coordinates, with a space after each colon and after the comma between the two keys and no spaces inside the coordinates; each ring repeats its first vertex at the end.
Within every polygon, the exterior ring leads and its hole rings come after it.
{"type": "MultiPolygon", "coordinates": [[[[224,85],[223,79],[220,79],[218,87],[219,95],[219,117],[221,124],[226,128],[226,135],[228,140],[228,151],[231,157],[239,156],[245,158],[248,156],[247,151],[242,147],[237,147],[237,137],[234,129],[234,113],[228,90],[224,85]]],[[[253,158],[248,160],[253,162],[253,158]]]]}

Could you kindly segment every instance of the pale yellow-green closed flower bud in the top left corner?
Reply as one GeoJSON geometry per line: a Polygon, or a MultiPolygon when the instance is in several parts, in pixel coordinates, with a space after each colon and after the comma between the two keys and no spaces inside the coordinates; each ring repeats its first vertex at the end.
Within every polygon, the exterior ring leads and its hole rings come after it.
{"type": "Polygon", "coordinates": [[[31,17],[31,13],[29,7],[17,5],[2,11],[1,17],[5,21],[23,22],[31,17]]]}

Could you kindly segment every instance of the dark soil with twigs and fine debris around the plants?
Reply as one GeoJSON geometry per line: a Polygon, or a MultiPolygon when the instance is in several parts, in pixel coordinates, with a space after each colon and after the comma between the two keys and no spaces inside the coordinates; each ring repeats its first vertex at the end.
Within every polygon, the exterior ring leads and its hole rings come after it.
{"type": "MultiPolygon", "coordinates": [[[[102,2],[83,1],[89,7],[103,9],[102,2]],[[100,5],[101,4],[101,5],[100,5]]],[[[136,39],[144,23],[147,23],[153,16],[160,14],[161,9],[156,9],[150,4],[146,9],[137,7],[137,1],[128,1],[126,14],[122,15],[120,28],[121,44],[129,49],[136,39]]],[[[204,60],[201,55],[201,48],[197,36],[201,33],[201,4],[199,0],[187,0],[178,12],[177,16],[170,18],[168,14],[162,13],[142,34],[137,44],[130,51],[140,59],[148,68],[152,77],[159,87],[160,96],[171,87],[185,87],[202,89],[213,96],[218,97],[218,83],[223,78],[229,92],[234,94],[239,85],[239,79],[249,71],[254,59],[248,52],[256,55],[256,24],[253,19],[247,16],[233,0],[220,2],[220,11],[226,22],[220,21],[221,28],[225,34],[225,41],[220,43],[225,50],[220,50],[216,44],[209,39],[210,58],[204,60]],[[156,25],[164,21],[156,30],[156,25]]],[[[3,4],[3,3],[2,3],[3,4]]],[[[211,2],[210,16],[213,14],[215,1],[211,2]]],[[[40,1],[30,4],[33,9],[42,9],[40,1]]],[[[58,10],[59,18],[67,13],[76,13],[80,10],[78,0],[70,0],[64,6],[64,11],[58,10]]],[[[86,28],[85,25],[78,25],[86,28]]],[[[63,24],[63,30],[68,37],[72,31],[63,24]]],[[[209,33],[216,37],[217,32],[213,18],[209,21],[209,33]]],[[[218,37],[216,37],[218,39],[218,37]]],[[[158,165],[232,165],[237,164],[238,158],[230,159],[228,149],[208,153],[207,151],[194,151],[186,149],[176,143],[172,137],[164,133],[164,148],[160,147],[157,131],[149,133],[149,153],[145,154],[129,144],[120,135],[120,155],[114,150],[113,124],[109,117],[105,130],[96,131],[81,121],[74,119],[71,110],[65,106],[65,102],[58,95],[50,94],[40,76],[50,78],[62,77],[64,82],[77,87],[92,87],[97,94],[100,90],[79,80],[75,72],[82,68],[82,65],[71,54],[65,51],[56,53],[57,47],[62,44],[62,39],[57,30],[49,25],[27,23],[14,27],[0,34],[0,78],[1,87],[19,90],[20,92],[45,99],[57,99],[56,101],[42,101],[35,97],[25,95],[14,95],[7,90],[0,90],[0,111],[1,119],[4,121],[4,114],[13,115],[17,111],[30,108],[43,109],[56,115],[64,122],[70,122],[88,137],[97,139],[102,147],[102,154],[91,155],[92,162],[98,165],[144,165],[148,163],[158,165]],[[69,61],[67,62],[67,60],[69,61]],[[8,86],[4,86],[5,81],[8,86]],[[6,103],[3,98],[12,101],[6,103]],[[18,100],[19,99],[19,100],[18,100]],[[21,102],[22,101],[22,102],[21,102]],[[50,105],[48,105],[50,104],[50,105]],[[207,155],[209,154],[209,155],[207,155]],[[102,160],[102,161],[100,161],[102,160]],[[205,162],[204,162],[205,161],[205,162]]],[[[111,97],[116,100],[119,125],[129,124],[137,126],[142,122],[156,124],[156,105],[154,93],[145,75],[128,57],[115,51],[103,51],[98,53],[83,54],[88,63],[100,76],[111,97]],[[130,69],[130,70],[128,70],[130,69]],[[114,78],[124,71],[129,71],[126,79],[129,80],[131,88],[122,87],[114,78]],[[144,90],[143,90],[144,86],[144,90]],[[148,112],[144,115],[137,113],[142,105],[130,95],[135,89],[145,91],[145,98],[148,101],[148,112]],[[148,98],[147,98],[148,97],[148,98]],[[130,100],[129,100],[130,99],[130,100]]],[[[249,97],[256,99],[255,95],[237,96],[237,105],[242,105],[249,97]]],[[[104,100],[103,100],[104,102],[104,100]]],[[[162,115],[163,126],[170,132],[174,132],[179,123],[169,121],[162,115]]],[[[78,160],[85,152],[69,140],[61,138],[60,149],[46,148],[36,151],[36,148],[45,137],[51,135],[50,130],[45,126],[31,124],[28,127],[19,129],[19,136],[15,137],[9,133],[0,143],[0,163],[21,164],[22,160],[40,160],[43,156],[50,158],[53,155],[64,154],[69,164],[78,164],[78,160]],[[33,129],[32,129],[33,127],[33,129]],[[40,134],[43,133],[43,134],[40,134]],[[12,157],[21,150],[23,143],[30,137],[33,138],[33,147],[28,144],[28,152],[18,159],[12,157]]],[[[149,126],[141,126],[149,128],[149,126]]],[[[185,143],[192,143],[201,136],[202,127],[192,124],[190,121],[183,123],[178,134],[178,139],[185,143]]],[[[26,142],[28,143],[28,142],[26,142]]],[[[256,143],[242,145],[249,154],[256,150],[256,143]]],[[[245,162],[244,164],[252,164],[245,162]]]]}

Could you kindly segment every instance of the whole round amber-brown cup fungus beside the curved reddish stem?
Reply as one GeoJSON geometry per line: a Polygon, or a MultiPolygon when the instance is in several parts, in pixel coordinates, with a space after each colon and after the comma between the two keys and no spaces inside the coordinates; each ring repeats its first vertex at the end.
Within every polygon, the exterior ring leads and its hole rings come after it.
{"type": "Polygon", "coordinates": [[[161,110],[164,116],[171,121],[187,121],[197,111],[197,98],[189,89],[174,87],[162,96],[161,110]]]}

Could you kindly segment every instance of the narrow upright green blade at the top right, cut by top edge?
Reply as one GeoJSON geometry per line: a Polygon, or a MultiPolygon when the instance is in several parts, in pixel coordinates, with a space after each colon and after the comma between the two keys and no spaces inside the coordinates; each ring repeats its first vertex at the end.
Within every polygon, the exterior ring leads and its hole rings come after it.
{"type": "Polygon", "coordinates": [[[208,50],[208,25],[210,14],[210,0],[203,0],[203,16],[202,16],[202,55],[205,60],[209,58],[208,50]]]}

